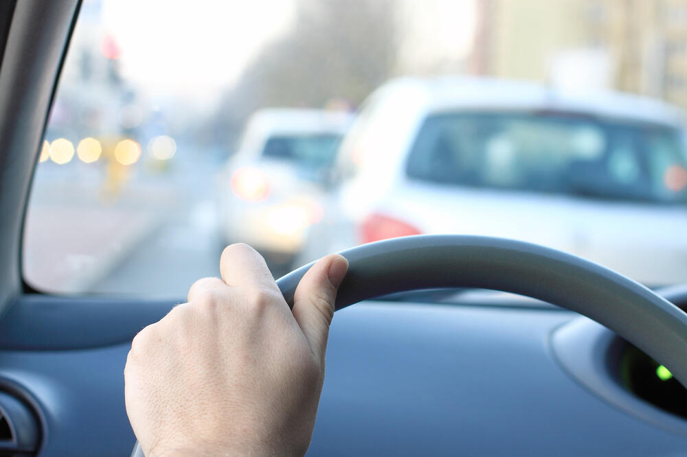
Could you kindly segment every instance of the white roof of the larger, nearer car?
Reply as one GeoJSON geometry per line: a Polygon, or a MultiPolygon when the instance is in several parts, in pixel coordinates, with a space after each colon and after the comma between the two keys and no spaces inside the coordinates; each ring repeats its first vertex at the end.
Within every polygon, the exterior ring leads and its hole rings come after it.
{"type": "Polygon", "coordinates": [[[518,80],[467,76],[396,78],[381,86],[377,93],[380,98],[409,97],[429,113],[456,108],[551,110],[684,126],[682,110],[658,99],[518,80]]]}

